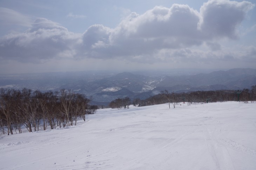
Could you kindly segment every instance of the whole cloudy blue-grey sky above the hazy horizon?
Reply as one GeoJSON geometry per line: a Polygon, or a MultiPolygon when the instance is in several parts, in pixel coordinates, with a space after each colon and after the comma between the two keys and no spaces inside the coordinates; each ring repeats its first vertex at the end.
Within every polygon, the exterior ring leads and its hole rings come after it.
{"type": "Polygon", "coordinates": [[[0,0],[0,73],[256,68],[255,4],[0,0]]]}

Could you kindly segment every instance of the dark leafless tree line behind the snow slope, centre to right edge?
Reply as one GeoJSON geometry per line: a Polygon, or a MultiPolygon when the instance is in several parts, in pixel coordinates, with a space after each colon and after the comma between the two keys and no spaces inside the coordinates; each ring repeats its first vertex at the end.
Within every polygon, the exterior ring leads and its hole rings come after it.
{"type": "MultiPolygon", "coordinates": [[[[132,101],[134,106],[148,106],[155,104],[169,103],[175,105],[180,102],[191,103],[207,103],[207,102],[225,102],[225,101],[237,101],[239,95],[239,101],[244,103],[256,101],[256,85],[251,89],[239,90],[240,94],[237,94],[236,90],[211,90],[211,91],[191,91],[187,93],[174,93],[168,90],[161,91],[160,94],[151,96],[147,99],[135,98],[132,101]]],[[[122,109],[124,106],[123,99],[118,98],[110,102],[110,108],[122,109]]]]}

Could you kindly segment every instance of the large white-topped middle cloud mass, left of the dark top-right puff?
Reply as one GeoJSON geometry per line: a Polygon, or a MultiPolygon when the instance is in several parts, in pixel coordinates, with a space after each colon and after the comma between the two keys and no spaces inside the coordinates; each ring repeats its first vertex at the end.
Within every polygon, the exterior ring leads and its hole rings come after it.
{"type": "MultiPolygon", "coordinates": [[[[143,15],[132,13],[124,19],[110,36],[116,47],[128,47],[135,54],[151,53],[164,48],[179,48],[201,44],[197,22],[198,12],[186,5],[171,8],[155,7],[143,15]]],[[[117,54],[118,52],[118,48],[117,54]]]]}

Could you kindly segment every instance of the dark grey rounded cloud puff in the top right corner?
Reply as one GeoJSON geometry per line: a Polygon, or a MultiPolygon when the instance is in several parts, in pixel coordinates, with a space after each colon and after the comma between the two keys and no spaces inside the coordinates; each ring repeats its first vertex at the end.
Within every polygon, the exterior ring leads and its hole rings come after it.
{"type": "Polygon", "coordinates": [[[212,38],[236,38],[237,25],[254,6],[247,1],[210,0],[200,8],[201,20],[198,27],[212,38]]]}

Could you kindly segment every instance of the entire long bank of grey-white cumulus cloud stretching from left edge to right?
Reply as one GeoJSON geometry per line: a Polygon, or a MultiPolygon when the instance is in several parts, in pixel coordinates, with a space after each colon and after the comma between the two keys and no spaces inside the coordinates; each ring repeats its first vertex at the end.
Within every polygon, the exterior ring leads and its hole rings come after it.
{"type": "Polygon", "coordinates": [[[235,54],[223,52],[216,42],[237,38],[237,27],[252,8],[251,2],[229,0],[209,0],[199,12],[188,5],[156,6],[142,15],[131,13],[113,29],[95,24],[83,34],[37,19],[27,31],[0,39],[0,57],[23,62],[53,58],[119,58],[148,63],[227,60],[235,54]],[[210,51],[193,49],[203,44],[210,51]]]}

